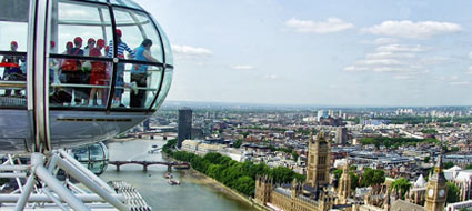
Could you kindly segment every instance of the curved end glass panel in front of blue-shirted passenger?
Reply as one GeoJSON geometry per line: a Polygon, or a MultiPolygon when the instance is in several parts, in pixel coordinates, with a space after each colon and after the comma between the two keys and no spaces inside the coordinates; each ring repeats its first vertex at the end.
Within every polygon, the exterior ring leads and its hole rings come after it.
{"type": "Polygon", "coordinates": [[[143,12],[121,8],[113,12],[120,41],[117,56],[123,60],[117,66],[111,108],[149,109],[162,79],[163,51],[159,32],[143,12]]]}

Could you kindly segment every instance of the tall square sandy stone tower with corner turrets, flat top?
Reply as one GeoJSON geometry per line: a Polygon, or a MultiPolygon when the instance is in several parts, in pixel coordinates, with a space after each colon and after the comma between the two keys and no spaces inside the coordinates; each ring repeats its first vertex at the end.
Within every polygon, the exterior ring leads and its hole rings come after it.
{"type": "Polygon", "coordinates": [[[330,173],[331,143],[329,137],[319,132],[313,140],[310,133],[307,181],[311,187],[327,185],[330,173]]]}

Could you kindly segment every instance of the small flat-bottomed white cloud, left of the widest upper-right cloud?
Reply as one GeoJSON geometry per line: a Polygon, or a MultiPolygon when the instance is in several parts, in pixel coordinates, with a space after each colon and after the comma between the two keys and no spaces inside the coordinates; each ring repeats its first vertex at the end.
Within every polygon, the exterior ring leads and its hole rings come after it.
{"type": "Polygon", "coordinates": [[[299,20],[292,18],[285,22],[285,26],[301,33],[332,33],[354,28],[354,24],[344,22],[339,18],[328,18],[325,21],[299,20]]]}

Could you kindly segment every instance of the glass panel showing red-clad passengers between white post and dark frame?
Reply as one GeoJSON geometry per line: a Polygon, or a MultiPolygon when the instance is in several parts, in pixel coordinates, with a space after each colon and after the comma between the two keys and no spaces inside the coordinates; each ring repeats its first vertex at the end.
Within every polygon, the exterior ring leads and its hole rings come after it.
{"type": "Polygon", "coordinates": [[[50,105],[104,109],[112,72],[110,10],[56,0],[51,17],[50,105]]]}

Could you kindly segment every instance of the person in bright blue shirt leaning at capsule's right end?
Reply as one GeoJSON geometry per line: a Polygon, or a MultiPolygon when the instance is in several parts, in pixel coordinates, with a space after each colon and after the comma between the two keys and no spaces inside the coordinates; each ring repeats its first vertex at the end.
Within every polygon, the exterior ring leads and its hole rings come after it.
{"type": "MultiPolygon", "coordinates": [[[[159,62],[158,59],[151,56],[151,46],[152,40],[144,39],[135,49],[135,59],[140,61],[151,61],[159,62]]],[[[148,86],[148,66],[144,64],[133,64],[131,69],[131,82],[135,82],[138,87],[145,88],[148,86]]],[[[142,108],[144,107],[145,101],[145,90],[138,90],[137,92],[131,93],[130,107],[142,108]]]]}

